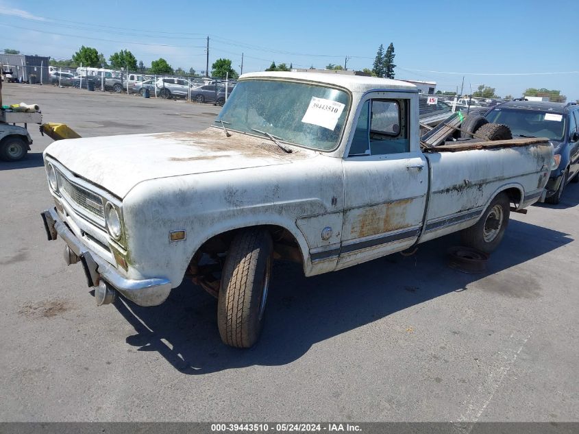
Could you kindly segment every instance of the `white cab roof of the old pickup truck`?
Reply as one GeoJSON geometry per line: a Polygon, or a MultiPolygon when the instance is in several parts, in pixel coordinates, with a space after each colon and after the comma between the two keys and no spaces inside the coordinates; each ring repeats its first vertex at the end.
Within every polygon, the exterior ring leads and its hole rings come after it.
{"type": "Polygon", "coordinates": [[[418,92],[417,86],[400,80],[389,78],[366,77],[364,75],[328,74],[314,72],[258,72],[243,74],[239,80],[245,78],[275,77],[291,78],[294,80],[304,80],[308,82],[319,82],[324,84],[334,84],[349,89],[352,92],[367,92],[375,89],[392,89],[395,91],[418,92]]]}

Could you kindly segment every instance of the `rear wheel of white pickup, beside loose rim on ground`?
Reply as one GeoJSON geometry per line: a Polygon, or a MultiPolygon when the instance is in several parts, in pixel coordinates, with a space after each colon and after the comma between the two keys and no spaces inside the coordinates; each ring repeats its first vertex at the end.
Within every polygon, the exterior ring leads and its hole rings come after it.
{"type": "Polygon", "coordinates": [[[510,202],[507,195],[498,194],[474,226],[460,231],[463,245],[485,253],[494,252],[504,236],[509,213],[510,202]]]}

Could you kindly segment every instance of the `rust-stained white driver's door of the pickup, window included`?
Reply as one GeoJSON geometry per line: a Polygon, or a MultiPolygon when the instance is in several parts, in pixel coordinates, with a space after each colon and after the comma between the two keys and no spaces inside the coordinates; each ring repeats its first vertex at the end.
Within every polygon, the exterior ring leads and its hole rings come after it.
{"type": "Polygon", "coordinates": [[[412,101],[412,93],[380,92],[360,102],[343,160],[338,269],[404,250],[419,236],[428,166],[419,147],[418,109],[412,101]]]}

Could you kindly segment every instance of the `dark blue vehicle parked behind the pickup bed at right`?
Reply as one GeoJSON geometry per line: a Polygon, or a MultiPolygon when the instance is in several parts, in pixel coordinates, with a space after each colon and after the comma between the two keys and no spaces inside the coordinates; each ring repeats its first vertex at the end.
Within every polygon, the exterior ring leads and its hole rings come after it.
{"type": "Polygon", "coordinates": [[[546,137],[559,161],[547,182],[545,202],[558,204],[568,182],[579,182],[579,106],[576,103],[510,101],[486,113],[503,123],[513,137],[546,137]]]}

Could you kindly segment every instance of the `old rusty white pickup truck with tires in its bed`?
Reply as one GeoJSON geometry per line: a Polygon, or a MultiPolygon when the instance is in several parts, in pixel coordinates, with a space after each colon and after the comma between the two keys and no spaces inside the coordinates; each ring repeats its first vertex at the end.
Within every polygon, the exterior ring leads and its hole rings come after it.
{"type": "Polygon", "coordinates": [[[510,208],[543,194],[553,149],[534,138],[423,152],[412,84],[272,72],[243,75],[206,130],[64,140],[44,157],[48,238],[82,262],[97,304],[121,293],[157,305],[193,278],[219,300],[223,341],[247,348],[273,260],[313,276],[456,231],[492,252],[510,208]]]}

